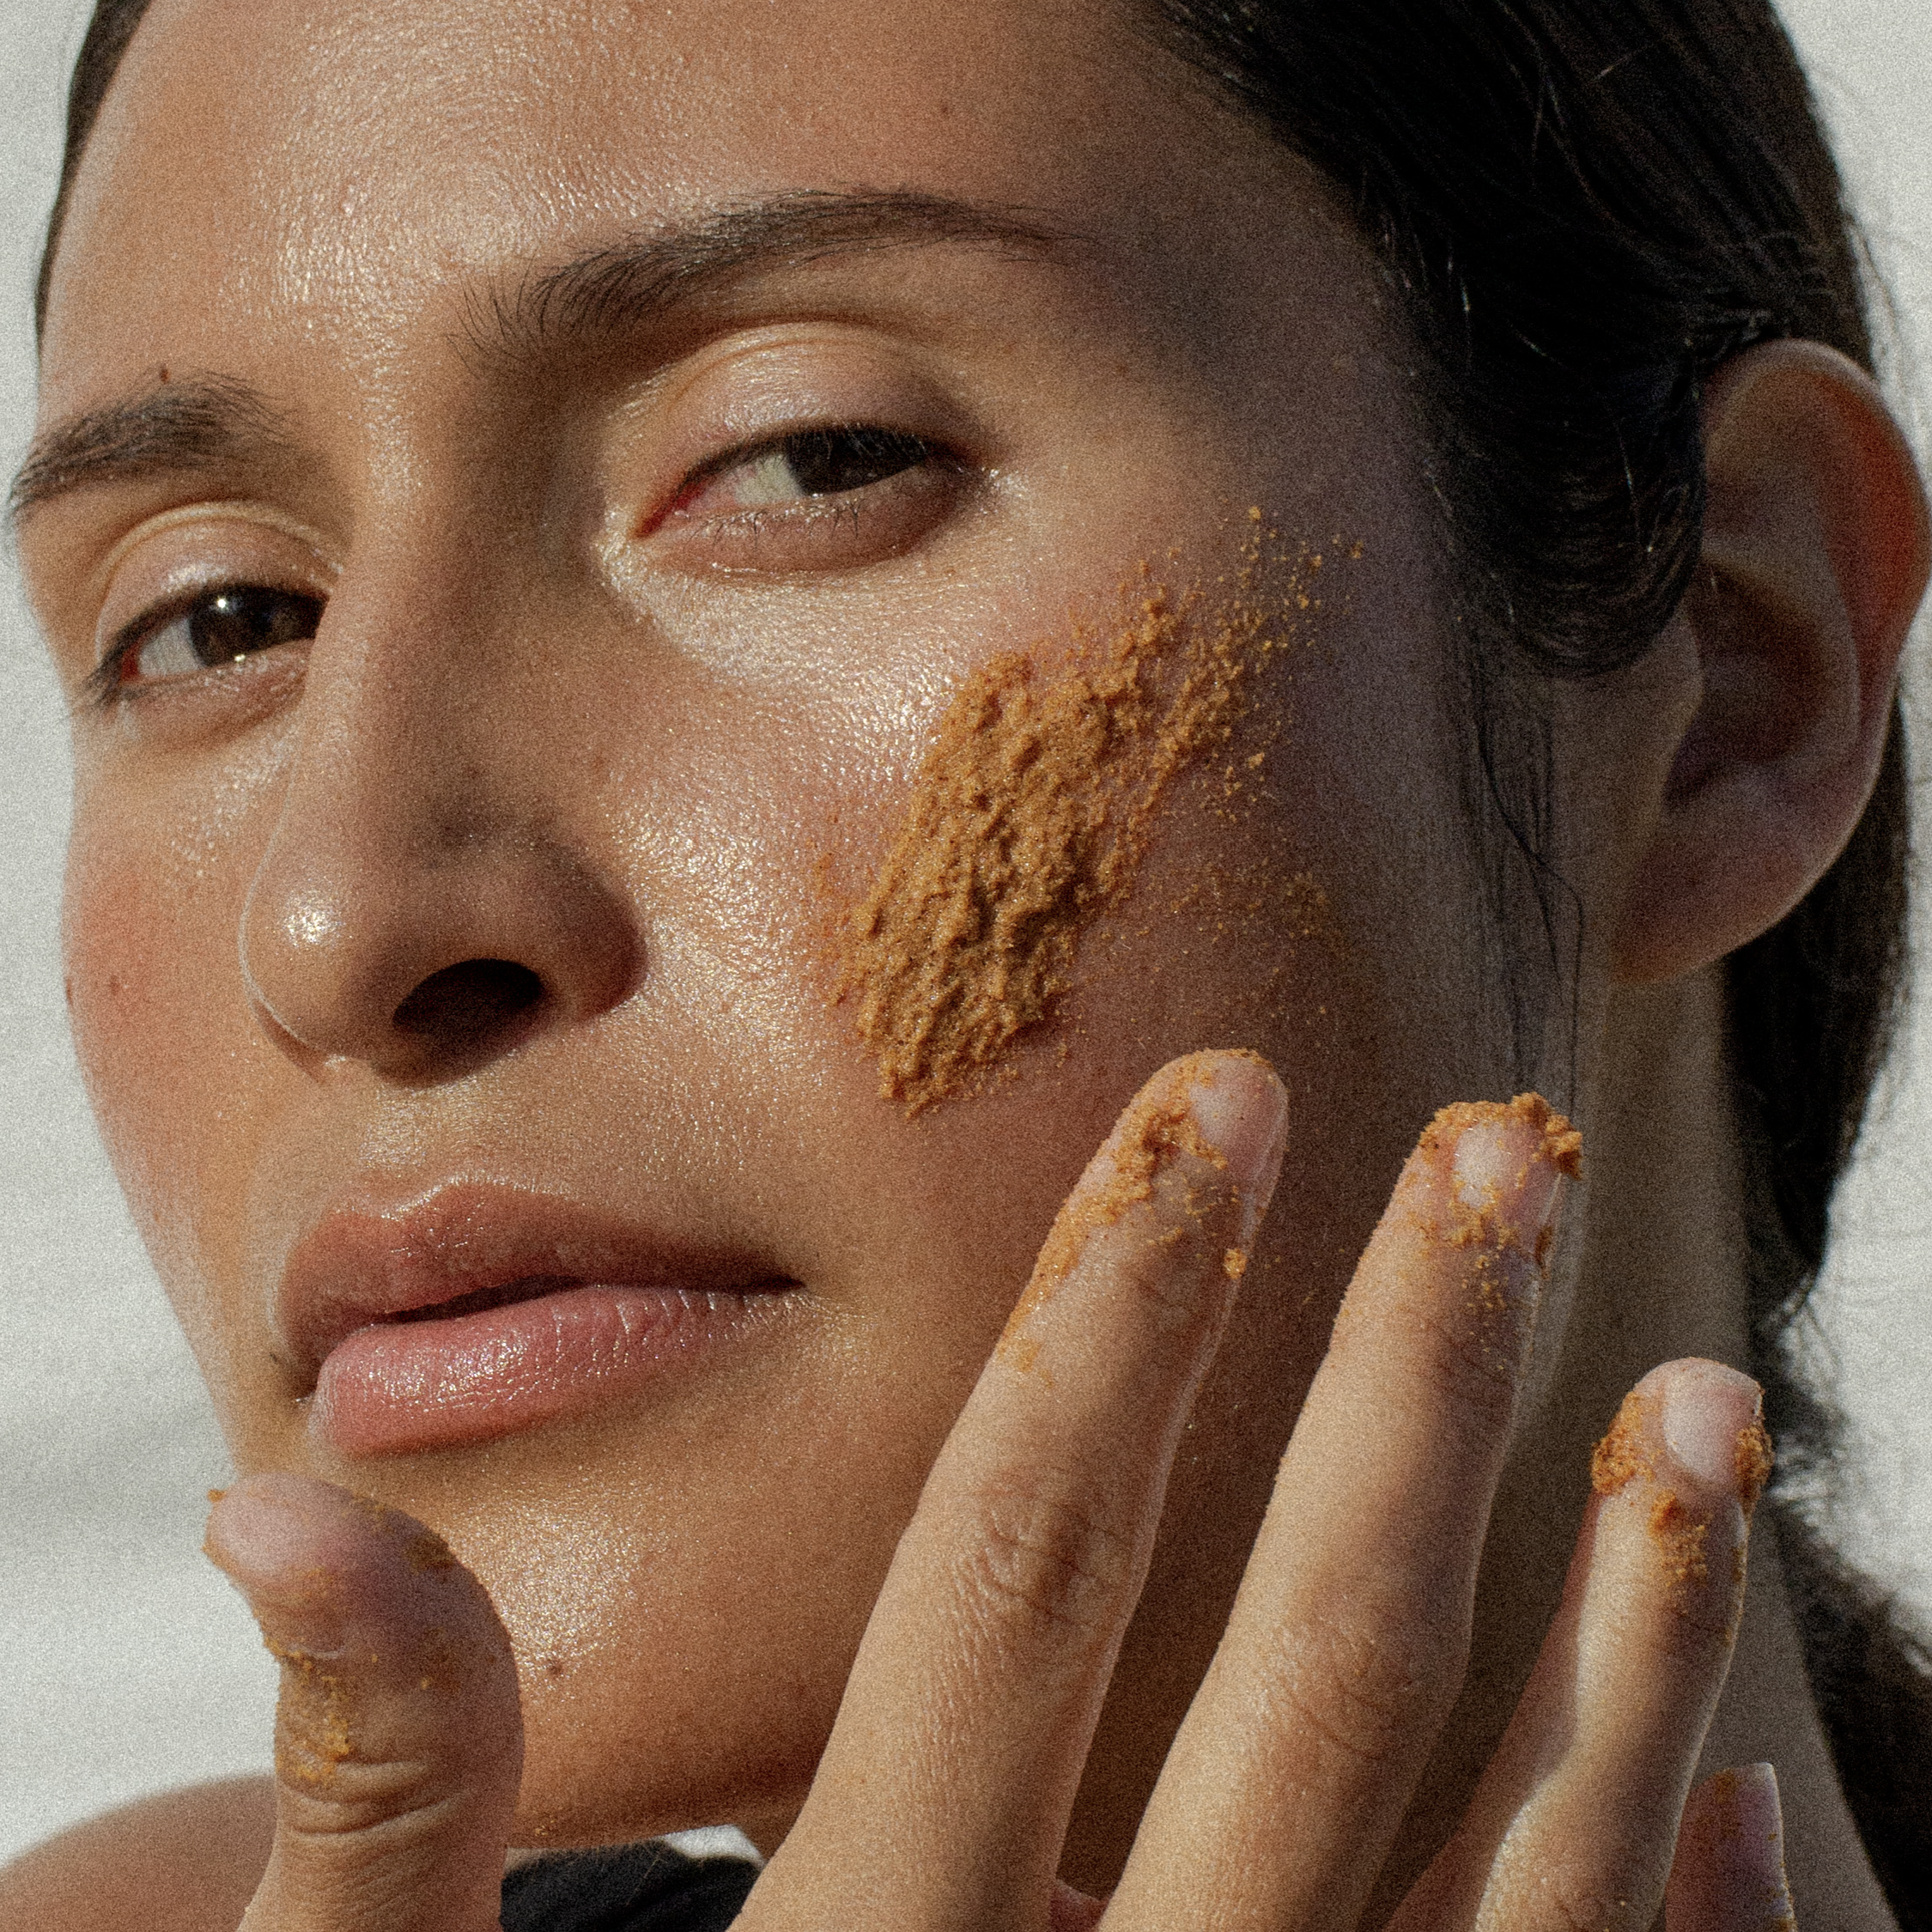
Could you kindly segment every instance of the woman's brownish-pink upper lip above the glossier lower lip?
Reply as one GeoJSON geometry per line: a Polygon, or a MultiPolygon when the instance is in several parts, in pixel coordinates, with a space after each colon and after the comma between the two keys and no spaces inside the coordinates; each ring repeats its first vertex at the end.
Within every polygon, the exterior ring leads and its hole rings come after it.
{"type": "Polygon", "coordinates": [[[599,1283],[752,1293],[798,1287],[744,1248],[680,1240],[500,1182],[448,1182],[394,1208],[338,1206],[296,1242],[276,1291],[286,1360],[313,1385],[371,1321],[599,1283]]]}

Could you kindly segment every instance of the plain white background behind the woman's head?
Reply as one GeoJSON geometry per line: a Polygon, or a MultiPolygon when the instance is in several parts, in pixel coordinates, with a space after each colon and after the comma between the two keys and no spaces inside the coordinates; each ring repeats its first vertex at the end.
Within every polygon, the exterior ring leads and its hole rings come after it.
{"type": "MultiPolygon", "coordinates": [[[[77,0],[0,0],[6,475],[33,408],[29,292],[85,12],[77,0]]],[[[1785,17],[1901,332],[1917,327],[1932,350],[1932,0],[1785,0],[1785,17]]],[[[1926,354],[1918,361],[1932,369],[1926,354]]],[[[1889,369],[1893,394],[1928,448],[1907,363],[1889,369]]],[[[220,1439],[66,1039],[66,811],[60,694],[0,558],[0,1859],[137,1793],[265,1768],[272,1708],[253,1625],[197,1553],[203,1492],[224,1478],[220,1439]]],[[[1924,1043],[1901,1053],[1845,1196],[1816,1349],[1855,1424],[1849,1548],[1932,1605],[1932,1443],[1920,1428],[1932,1391],[1932,1028],[1917,1032],[1924,1043]]]]}

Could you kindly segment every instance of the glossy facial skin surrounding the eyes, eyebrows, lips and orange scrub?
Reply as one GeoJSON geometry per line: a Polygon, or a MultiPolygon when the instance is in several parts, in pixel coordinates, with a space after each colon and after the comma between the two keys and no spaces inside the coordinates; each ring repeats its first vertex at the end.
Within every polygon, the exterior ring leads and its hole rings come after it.
{"type": "MultiPolygon", "coordinates": [[[[172,585],[189,553],[328,611],[313,649],[265,653],[232,688],[85,717],[73,1018],[240,1464],[309,1468],[448,1534],[526,1654],[529,1822],[589,1837],[711,1816],[724,1789],[740,1804],[748,1787],[773,1806],[792,1795],[925,1464],[1053,1208],[1146,1072],[1233,1024],[1294,1068],[1310,1121],[1360,1080],[1320,1028],[1256,1039],[1248,1016],[1219,1018],[1238,974],[1204,974],[1180,1010],[1101,1007],[1095,985],[1072,1016],[1076,1057],[1036,1053],[987,1099],[912,1124],[877,1099],[815,958],[811,867],[827,846],[858,862],[875,846],[962,670],[1063,636],[1070,607],[1111,611],[1146,554],[1180,545],[1229,568],[1231,512],[1250,500],[1318,543],[1358,533],[1352,609],[1300,688],[1306,798],[1254,837],[1329,883],[1350,956],[1405,989],[1453,943],[1459,900],[1441,900],[1451,935],[1418,929],[1383,896],[1406,898],[1406,881],[1364,864],[1391,848],[1393,819],[1443,813],[1418,796],[1428,773],[1389,786],[1350,713],[1428,715],[1435,692],[1399,392],[1362,342],[1372,280],[1298,168],[1229,128],[1200,155],[1196,205],[1161,216],[1148,249],[1144,116],[1179,139],[1198,102],[1165,71],[1122,102],[1119,46],[1105,66],[1068,60],[1078,37],[1047,17],[1016,43],[1012,21],[960,19],[910,52],[889,14],[833,10],[817,58],[786,37],[782,99],[755,106],[732,64],[781,62],[757,60],[771,29],[736,10],[680,23],[657,56],[676,87],[639,87],[634,44],[616,52],[607,31],[556,44],[531,17],[520,52],[456,95],[433,93],[439,48],[475,29],[460,10],[433,33],[410,17],[330,8],[315,52],[292,58],[299,10],[255,25],[162,6],[83,176],[48,413],[153,383],[158,361],[253,383],[294,415],[298,448],[280,473],[243,464],[50,506],[33,572],[64,668],[85,674],[97,632],[172,585]],[[274,79],[211,97],[203,75],[238,33],[245,66],[274,79]],[[850,85],[846,64],[879,102],[856,126],[808,112],[850,85]],[[1037,128],[1068,87],[1099,145],[1043,153],[1037,128]],[[290,124],[301,133],[265,182],[255,156],[290,124]],[[367,126],[412,135],[369,153],[352,139],[367,126]],[[193,195],[129,193],[187,156],[213,162],[193,195]],[[667,213],[906,180],[1090,240],[1024,261],[873,249],[477,379],[462,325],[533,265],[667,213]],[[1281,209],[1293,247],[1264,255],[1236,228],[1254,195],[1281,209]],[[1211,278],[1206,224],[1221,238],[1211,278]],[[191,311],[184,278],[201,290],[191,311]],[[1298,319],[1287,361],[1279,315],[1298,319]],[[711,531],[672,510],[632,535],[699,464],[827,417],[933,437],[966,477],[889,481],[875,495],[898,502],[829,529],[794,516],[711,531]],[[129,533],[211,497],[236,508],[137,537],[104,572],[129,533]],[[290,937],[298,898],[346,937],[290,937]],[[390,1076],[388,1007],[469,956],[531,966],[556,1007],[516,1051],[390,1076]],[[301,1381],[276,1368],[269,1285],[342,1194],[386,1204],[471,1177],[742,1244],[806,1283],[810,1312],[782,1347],[661,1403],[448,1461],[334,1459],[303,1428],[301,1381]],[[779,1538],[782,1522],[815,1530],[779,1538]],[[773,1685],[755,1708],[724,1690],[742,1654],[773,1685]],[[611,1735],[612,1700],[705,1737],[717,1768],[639,1764],[611,1735]]],[[[1213,837],[1177,831],[1173,867],[1213,837]]],[[[1200,937],[1163,920],[1122,980],[1200,937]]],[[[1283,954],[1291,1012],[1341,1005],[1325,954],[1283,954]]],[[[1389,1037],[1376,993],[1358,987],[1347,1020],[1389,1037]]],[[[1285,1437],[1339,1264],[1418,1121],[1472,1080],[1430,1051],[1428,1022],[1414,1012],[1389,1055],[1424,1076],[1378,1092],[1374,1124],[1320,1136],[1298,1169],[1283,1233],[1302,1244],[1316,1229],[1314,1265],[1256,1293],[1267,1329],[1229,1350],[1229,1406],[1260,1443],[1285,1437]]],[[[1238,1573],[1271,1459],[1250,1468],[1244,1435],[1202,1457],[1204,1493],[1225,1509],[1233,1482],[1248,1505],[1190,1526],[1194,1588],[1211,1596],[1238,1573]]],[[[1171,1594],[1150,1615],[1192,1625],[1188,1582],[1171,1594]]]]}

